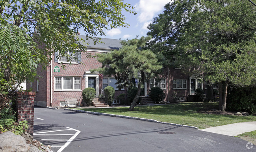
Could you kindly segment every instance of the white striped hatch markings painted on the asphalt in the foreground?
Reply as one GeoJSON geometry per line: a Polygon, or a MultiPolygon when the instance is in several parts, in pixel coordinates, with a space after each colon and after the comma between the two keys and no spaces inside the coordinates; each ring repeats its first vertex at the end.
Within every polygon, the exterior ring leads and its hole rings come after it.
{"type": "MultiPolygon", "coordinates": [[[[69,127],[67,127],[69,128],[69,127]]],[[[38,132],[35,133],[34,136],[63,136],[63,135],[68,135],[68,136],[72,136],[70,139],[66,140],[66,139],[41,139],[44,141],[67,141],[64,145],[52,145],[51,147],[61,147],[59,148],[59,150],[57,152],[61,152],[62,150],[64,150],[75,138],[76,136],[78,136],[78,134],[80,133],[79,130],[73,129],[73,128],[69,128],[69,129],[65,129],[65,130],[56,130],[56,131],[49,131],[49,132],[38,132]],[[76,134],[43,134],[43,133],[49,133],[49,132],[59,132],[59,131],[66,131],[66,130],[74,130],[76,131],[76,134]]]]}

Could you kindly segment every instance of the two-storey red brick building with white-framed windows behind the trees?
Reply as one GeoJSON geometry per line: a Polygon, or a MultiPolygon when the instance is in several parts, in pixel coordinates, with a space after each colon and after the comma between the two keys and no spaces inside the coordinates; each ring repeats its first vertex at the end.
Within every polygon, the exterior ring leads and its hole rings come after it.
{"type": "MultiPolygon", "coordinates": [[[[85,36],[79,37],[86,39],[85,36]]],[[[87,46],[87,52],[95,55],[96,53],[109,53],[114,49],[121,48],[121,40],[102,38],[104,43],[92,43],[87,46]]],[[[106,86],[112,86],[115,92],[115,98],[126,93],[127,90],[118,90],[116,80],[113,77],[104,77],[103,79],[98,73],[91,73],[90,70],[99,68],[102,64],[96,58],[87,58],[85,53],[78,53],[78,60],[72,60],[70,65],[65,57],[57,59],[58,52],[52,55],[50,66],[46,70],[40,67],[37,69],[39,76],[35,82],[27,82],[26,88],[32,88],[36,92],[35,105],[38,106],[64,106],[65,98],[76,98],[82,101],[82,91],[84,88],[95,88],[98,97],[106,86]],[[61,62],[65,64],[65,70],[61,68],[61,62]],[[83,64],[81,64],[81,62],[83,64]]],[[[173,93],[176,92],[181,100],[186,100],[187,95],[193,94],[196,88],[203,88],[197,79],[193,79],[180,69],[165,68],[163,74],[158,79],[150,79],[145,82],[143,95],[148,96],[150,89],[154,86],[160,87],[166,94],[166,102],[175,102],[173,93]]]]}

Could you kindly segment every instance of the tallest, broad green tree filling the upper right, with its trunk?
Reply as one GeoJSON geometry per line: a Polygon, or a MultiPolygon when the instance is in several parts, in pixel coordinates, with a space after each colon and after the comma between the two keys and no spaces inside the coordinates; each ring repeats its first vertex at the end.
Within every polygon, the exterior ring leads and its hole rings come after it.
{"type": "Polygon", "coordinates": [[[189,75],[219,83],[219,109],[224,111],[228,84],[255,85],[255,17],[249,1],[174,0],[148,26],[148,35],[158,48],[168,48],[189,75]]]}

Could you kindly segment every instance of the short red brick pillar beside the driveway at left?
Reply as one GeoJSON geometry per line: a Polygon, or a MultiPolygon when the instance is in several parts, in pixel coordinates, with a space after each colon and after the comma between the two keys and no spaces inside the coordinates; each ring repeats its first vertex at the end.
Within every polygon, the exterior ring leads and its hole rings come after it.
{"type": "Polygon", "coordinates": [[[18,121],[28,121],[28,133],[33,136],[35,92],[17,92],[16,97],[18,121]]]}

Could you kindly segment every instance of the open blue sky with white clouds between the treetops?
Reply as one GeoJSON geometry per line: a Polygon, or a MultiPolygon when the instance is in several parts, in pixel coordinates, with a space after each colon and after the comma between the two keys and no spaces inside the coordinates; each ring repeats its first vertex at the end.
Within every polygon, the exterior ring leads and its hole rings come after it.
{"type": "MultiPolygon", "coordinates": [[[[146,36],[148,31],[147,25],[158,14],[163,13],[163,7],[168,2],[171,2],[171,0],[124,0],[124,3],[131,4],[135,7],[134,11],[137,15],[123,11],[123,15],[126,17],[125,22],[130,24],[130,27],[117,27],[110,31],[105,30],[106,37],[104,38],[121,38],[121,40],[126,40],[127,38],[135,38],[136,35],[139,35],[139,37],[146,36]]],[[[83,31],[80,31],[80,33],[84,35],[83,31]]]]}

